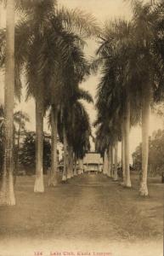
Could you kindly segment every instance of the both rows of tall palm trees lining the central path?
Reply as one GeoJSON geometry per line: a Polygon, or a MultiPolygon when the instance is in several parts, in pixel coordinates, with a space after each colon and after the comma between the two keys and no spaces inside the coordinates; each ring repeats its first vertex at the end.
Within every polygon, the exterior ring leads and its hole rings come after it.
{"type": "MultiPolygon", "coordinates": [[[[92,15],[80,10],[59,9],[54,0],[7,1],[6,30],[0,32],[0,64],[5,67],[5,150],[0,203],[14,205],[13,123],[14,94],[20,98],[22,76],[26,96],[36,102],[35,192],[44,191],[42,177],[43,118],[49,109],[52,131],[52,166],[49,185],[56,185],[57,133],[64,143],[63,180],[72,177],[73,160],[89,148],[91,134],[88,113],[81,100],[93,102],[79,84],[101,67],[96,107],[97,148],[105,154],[105,172],[113,172],[113,148],[122,140],[123,184],[131,187],[129,172],[129,131],[143,125],[143,177],[140,194],[148,195],[148,127],[150,104],[163,96],[163,3],[133,1],[133,20],[106,22],[103,32],[92,15]],[[15,4],[16,3],[16,4],[15,4]],[[14,26],[15,9],[21,12],[14,26]],[[99,38],[97,59],[92,65],[83,49],[85,40],[99,38]],[[146,98],[146,100],[145,100],[146,98]]],[[[115,154],[115,159],[117,156],[115,154]]],[[[79,160],[79,162],[81,162],[79,160]]],[[[115,161],[116,162],[116,161],[115,161]]],[[[75,165],[76,173],[76,165],[75,165]]]]}

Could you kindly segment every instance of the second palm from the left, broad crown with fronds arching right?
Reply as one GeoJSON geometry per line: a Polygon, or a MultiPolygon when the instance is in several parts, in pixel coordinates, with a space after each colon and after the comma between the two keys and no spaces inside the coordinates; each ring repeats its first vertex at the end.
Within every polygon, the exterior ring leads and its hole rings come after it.
{"type": "MultiPolygon", "coordinates": [[[[54,87],[55,93],[51,95],[54,95],[56,100],[58,96],[55,83],[56,73],[59,71],[60,64],[63,66],[67,62],[71,50],[71,44],[67,40],[69,39],[68,32],[71,36],[73,31],[78,31],[82,37],[86,38],[97,34],[99,26],[92,15],[85,15],[80,10],[57,9],[53,0],[30,1],[31,4],[27,2],[20,1],[18,5],[20,9],[24,5],[28,15],[25,21],[20,22],[15,32],[15,41],[20,43],[15,44],[15,53],[23,53],[16,57],[15,63],[18,68],[15,69],[15,74],[17,84],[21,85],[19,70],[22,70],[25,65],[27,94],[36,99],[38,153],[35,191],[43,191],[40,173],[42,172],[42,112],[45,107],[43,96],[47,98],[47,92],[50,91],[50,89],[45,90],[45,86],[54,87]],[[65,39],[65,34],[68,35],[67,39],[65,39]],[[40,45],[39,48],[38,45],[40,45]],[[59,60],[62,60],[62,63],[58,63],[59,60]],[[39,183],[41,183],[41,188],[39,188],[39,183]]],[[[75,41],[76,44],[83,44],[82,40],[80,42],[76,36],[75,41]]]]}

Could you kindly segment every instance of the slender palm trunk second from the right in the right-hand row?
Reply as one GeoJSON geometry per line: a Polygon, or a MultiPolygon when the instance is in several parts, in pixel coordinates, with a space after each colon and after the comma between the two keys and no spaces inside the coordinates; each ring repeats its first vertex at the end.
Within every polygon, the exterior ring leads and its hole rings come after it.
{"type": "Polygon", "coordinates": [[[125,186],[132,186],[129,169],[129,133],[130,133],[130,97],[127,92],[125,101],[125,117],[124,117],[124,138],[125,138],[125,186]]]}

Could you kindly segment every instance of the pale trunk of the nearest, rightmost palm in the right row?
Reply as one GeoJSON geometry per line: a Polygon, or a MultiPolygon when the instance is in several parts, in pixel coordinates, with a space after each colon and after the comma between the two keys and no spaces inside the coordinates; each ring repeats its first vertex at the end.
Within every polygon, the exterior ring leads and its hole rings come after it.
{"type": "Polygon", "coordinates": [[[144,86],[142,93],[142,179],[139,189],[139,194],[142,196],[148,195],[147,175],[149,156],[150,96],[150,86],[144,86]]]}

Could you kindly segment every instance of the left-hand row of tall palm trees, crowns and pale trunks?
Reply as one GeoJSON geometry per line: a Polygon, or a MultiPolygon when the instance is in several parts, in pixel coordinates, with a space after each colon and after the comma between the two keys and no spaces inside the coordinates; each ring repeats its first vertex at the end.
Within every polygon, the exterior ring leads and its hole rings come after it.
{"type": "Polygon", "coordinates": [[[6,30],[0,32],[1,67],[5,67],[4,161],[1,205],[14,205],[14,94],[20,99],[22,76],[26,96],[36,102],[35,192],[44,191],[42,176],[43,118],[49,109],[52,131],[52,166],[49,185],[56,185],[57,133],[64,143],[63,180],[72,177],[73,159],[82,159],[91,133],[88,113],[81,100],[93,102],[79,84],[89,75],[83,49],[87,38],[99,33],[92,15],[59,9],[54,0],[10,0],[6,5],[6,30]],[[15,4],[16,3],[16,4],[15,4]],[[15,9],[21,12],[14,26],[15,9]],[[68,157],[69,156],[69,157],[68,157]]]}

